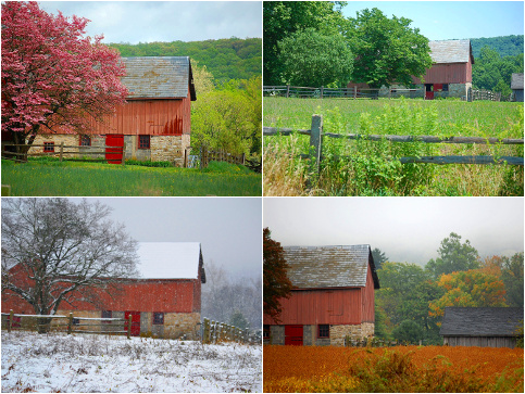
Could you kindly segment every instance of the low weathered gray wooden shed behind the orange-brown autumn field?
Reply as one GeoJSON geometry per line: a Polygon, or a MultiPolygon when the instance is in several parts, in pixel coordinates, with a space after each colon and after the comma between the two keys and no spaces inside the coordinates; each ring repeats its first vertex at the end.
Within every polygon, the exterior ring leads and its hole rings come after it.
{"type": "Polygon", "coordinates": [[[523,340],[523,308],[447,307],[439,334],[449,346],[513,348],[523,340]]]}

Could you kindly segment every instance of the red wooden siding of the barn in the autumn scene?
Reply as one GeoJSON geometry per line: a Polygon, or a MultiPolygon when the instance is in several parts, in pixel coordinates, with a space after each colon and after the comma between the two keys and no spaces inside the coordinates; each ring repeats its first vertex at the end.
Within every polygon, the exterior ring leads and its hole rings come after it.
{"type": "MultiPolygon", "coordinates": [[[[362,321],[361,288],[293,290],[290,298],[280,300],[280,325],[359,325],[362,321]]],[[[275,322],[264,316],[264,323],[275,322]]]]}

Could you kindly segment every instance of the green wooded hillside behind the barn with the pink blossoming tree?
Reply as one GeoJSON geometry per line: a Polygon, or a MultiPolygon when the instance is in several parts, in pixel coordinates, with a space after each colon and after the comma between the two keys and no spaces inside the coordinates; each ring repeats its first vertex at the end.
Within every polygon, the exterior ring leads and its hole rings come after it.
{"type": "Polygon", "coordinates": [[[227,38],[207,41],[110,43],[122,56],[190,56],[205,65],[216,82],[262,75],[262,39],[227,38]]]}

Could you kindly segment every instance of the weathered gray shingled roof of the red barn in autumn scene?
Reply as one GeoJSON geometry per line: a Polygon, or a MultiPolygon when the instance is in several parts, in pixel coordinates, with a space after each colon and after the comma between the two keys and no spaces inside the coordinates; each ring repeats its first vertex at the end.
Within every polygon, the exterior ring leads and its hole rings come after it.
{"type": "Polygon", "coordinates": [[[370,245],[283,246],[288,278],[299,289],[365,287],[368,259],[379,289],[370,245]]]}

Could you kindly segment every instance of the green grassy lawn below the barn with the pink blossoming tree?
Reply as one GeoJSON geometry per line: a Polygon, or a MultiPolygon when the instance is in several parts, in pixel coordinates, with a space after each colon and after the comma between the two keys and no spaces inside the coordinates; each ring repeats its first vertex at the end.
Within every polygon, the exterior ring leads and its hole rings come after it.
{"type": "Polygon", "coordinates": [[[2,160],[2,185],[11,186],[13,196],[260,196],[261,183],[260,174],[227,163],[201,170],[2,160]]]}

